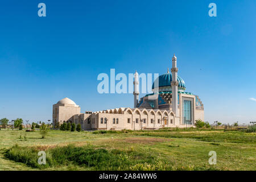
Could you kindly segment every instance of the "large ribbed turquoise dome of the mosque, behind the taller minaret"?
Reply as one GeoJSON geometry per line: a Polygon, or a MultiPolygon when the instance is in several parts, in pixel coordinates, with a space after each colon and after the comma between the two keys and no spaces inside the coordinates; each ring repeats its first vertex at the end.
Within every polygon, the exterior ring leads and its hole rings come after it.
{"type": "MultiPolygon", "coordinates": [[[[172,81],[172,74],[171,73],[165,73],[163,75],[160,75],[158,77],[158,82],[159,82],[159,91],[171,91],[171,81],[172,81]]],[[[179,82],[178,85],[178,91],[179,92],[184,92],[185,90],[185,82],[184,80],[177,76],[177,81],[179,82]]],[[[155,81],[152,85],[152,89],[155,89],[155,81]]]]}

